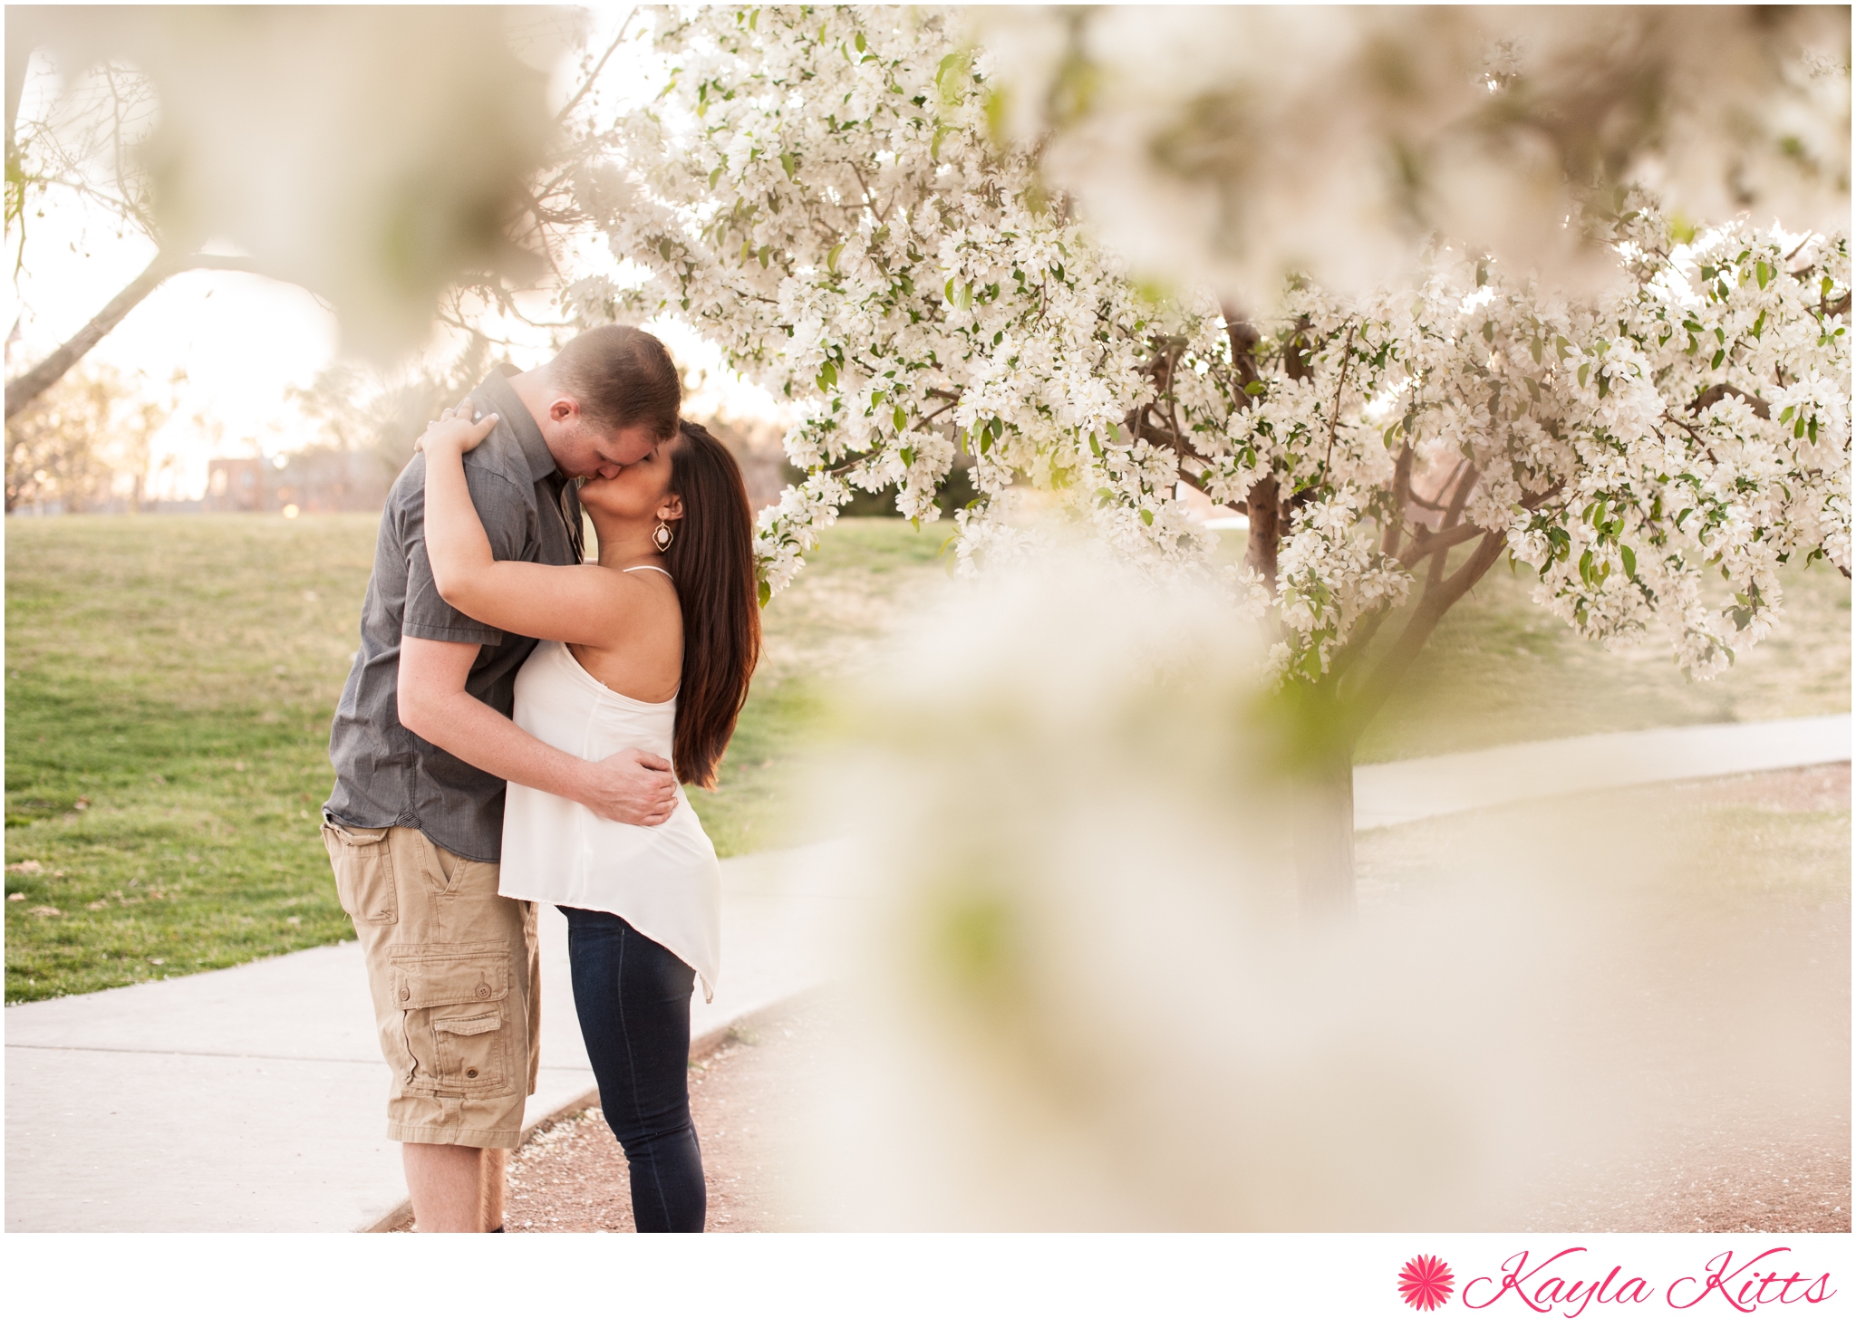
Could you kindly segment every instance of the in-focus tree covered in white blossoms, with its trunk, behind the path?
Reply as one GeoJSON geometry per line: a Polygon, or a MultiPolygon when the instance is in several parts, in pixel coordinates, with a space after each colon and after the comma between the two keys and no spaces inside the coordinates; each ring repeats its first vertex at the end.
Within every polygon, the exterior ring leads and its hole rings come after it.
{"type": "Polygon", "coordinates": [[[674,76],[579,189],[650,275],[574,284],[581,317],[679,310],[794,402],[807,479],[761,514],[763,595],[852,486],[935,519],[956,453],[969,568],[1025,540],[1013,484],[1158,564],[1210,547],[1179,484],[1247,510],[1236,595],[1323,734],[1303,888],[1346,911],[1353,744],[1503,555],[1572,629],[1656,634],[1695,677],[1771,631],[1782,564],[1849,573],[1845,237],[1609,191],[1600,293],[1437,241],[1409,280],[1292,280],[1238,317],[1134,280],[999,145],[997,72],[956,37],[932,11],[666,15],[674,76]]]}

